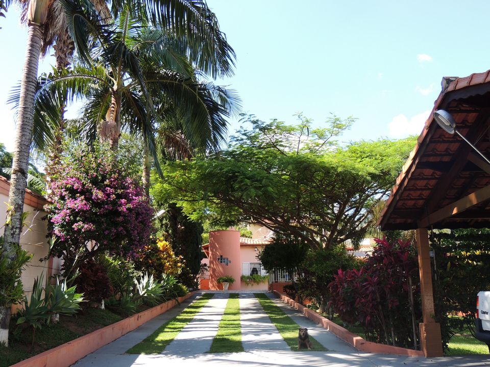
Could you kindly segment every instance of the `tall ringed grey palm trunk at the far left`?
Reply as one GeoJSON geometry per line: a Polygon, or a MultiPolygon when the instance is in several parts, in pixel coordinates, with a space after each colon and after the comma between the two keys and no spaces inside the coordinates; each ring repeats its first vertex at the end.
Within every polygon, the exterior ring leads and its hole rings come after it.
{"type": "MultiPolygon", "coordinates": [[[[20,84],[20,101],[17,127],[15,132],[14,160],[12,162],[12,176],[10,179],[9,203],[4,232],[4,246],[2,255],[10,263],[15,259],[16,249],[19,246],[20,232],[22,231],[21,215],[26,194],[27,173],[29,168],[29,149],[32,139],[32,126],[34,117],[34,94],[37,86],[37,68],[41,51],[42,27],[35,23],[29,24],[29,33],[26,49],[26,59],[20,84]]],[[[1,314],[0,325],[9,325],[5,320],[5,313],[1,314]]],[[[5,340],[0,340],[0,343],[5,340]]]]}

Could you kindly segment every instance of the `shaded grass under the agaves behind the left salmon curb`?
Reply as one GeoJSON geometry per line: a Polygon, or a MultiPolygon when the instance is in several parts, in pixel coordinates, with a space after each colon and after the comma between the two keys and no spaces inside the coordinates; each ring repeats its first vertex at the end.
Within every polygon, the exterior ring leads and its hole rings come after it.
{"type": "Polygon", "coordinates": [[[9,347],[0,346],[0,367],[7,367],[48,349],[58,347],[70,340],[113,324],[122,317],[109,310],[88,308],[75,316],[60,316],[60,322],[51,327],[36,330],[34,347],[31,349],[32,329],[26,324],[15,325],[11,321],[9,347]]]}

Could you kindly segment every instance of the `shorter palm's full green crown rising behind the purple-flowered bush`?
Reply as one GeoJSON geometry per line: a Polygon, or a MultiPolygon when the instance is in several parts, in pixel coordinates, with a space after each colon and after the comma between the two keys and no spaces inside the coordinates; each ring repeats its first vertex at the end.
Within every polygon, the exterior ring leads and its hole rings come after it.
{"type": "MultiPolygon", "coordinates": [[[[55,71],[41,80],[35,114],[36,125],[45,126],[38,129],[45,134],[41,137],[53,138],[50,119],[46,123],[45,117],[55,115],[64,103],[54,96],[69,91],[71,98],[87,98],[83,117],[71,125],[83,126],[85,140],[99,136],[113,148],[122,128],[140,135],[147,194],[152,158],[157,153],[155,128],[159,145],[169,151],[178,145],[212,150],[225,142],[225,117],[237,112],[238,99],[224,88],[198,81],[199,73],[186,58],[182,42],[153,27],[135,27],[128,11],[120,13],[113,27],[92,30],[96,42],[91,55],[95,57],[87,66],[55,71]]],[[[34,141],[37,146],[42,144],[42,139],[34,141]]]]}

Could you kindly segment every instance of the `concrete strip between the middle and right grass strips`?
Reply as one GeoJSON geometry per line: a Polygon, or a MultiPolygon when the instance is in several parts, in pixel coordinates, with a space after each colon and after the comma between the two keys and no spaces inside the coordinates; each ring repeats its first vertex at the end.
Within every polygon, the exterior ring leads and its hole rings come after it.
{"type": "Polygon", "coordinates": [[[241,344],[245,351],[290,348],[253,294],[240,294],[241,344]]]}

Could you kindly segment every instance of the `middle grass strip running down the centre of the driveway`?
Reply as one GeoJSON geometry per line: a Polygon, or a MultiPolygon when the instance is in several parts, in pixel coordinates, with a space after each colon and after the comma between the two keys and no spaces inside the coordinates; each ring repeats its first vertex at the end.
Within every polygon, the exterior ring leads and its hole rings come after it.
{"type": "Polygon", "coordinates": [[[209,353],[236,352],[243,352],[243,346],[241,345],[240,301],[238,300],[238,293],[231,293],[209,353]]]}

